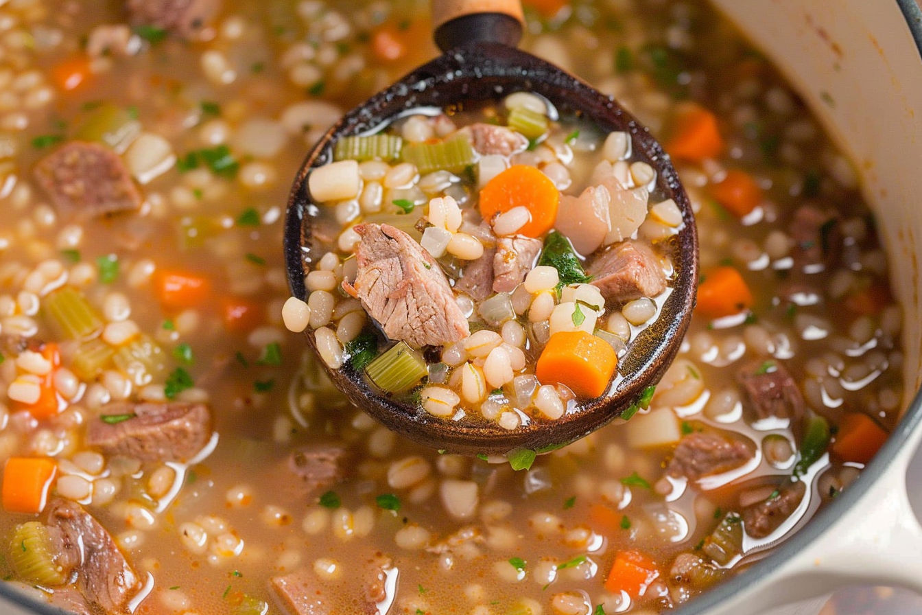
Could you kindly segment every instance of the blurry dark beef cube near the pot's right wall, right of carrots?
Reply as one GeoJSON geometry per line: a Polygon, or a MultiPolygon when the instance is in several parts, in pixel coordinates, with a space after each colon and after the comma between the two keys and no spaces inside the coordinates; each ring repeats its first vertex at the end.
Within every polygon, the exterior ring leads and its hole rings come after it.
{"type": "Polygon", "coordinates": [[[794,264],[807,273],[831,266],[842,254],[842,224],[833,211],[805,205],[794,213],[788,232],[794,264]]]}

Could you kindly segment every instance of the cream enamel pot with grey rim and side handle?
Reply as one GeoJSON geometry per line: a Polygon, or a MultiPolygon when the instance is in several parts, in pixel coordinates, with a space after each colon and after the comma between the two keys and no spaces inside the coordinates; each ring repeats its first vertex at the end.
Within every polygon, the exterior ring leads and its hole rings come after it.
{"type": "MultiPolygon", "coordinates": [[[[904,313],[904,390],[922,384],[922,11],[915,0],[713,0],[774,60],[857,163],[904,313]]],[[[908,400],[907,400],[908,401],[908,400]]],[[[922,593],[922,526],[906,470],[922,441],[922,394],[849,489],[761,562],[678,615],[816,613],[834,588],[922,593]]],[[[916,480],[916,489],[922,481],[916,480]]],[[[4,615],[56,615],[0,584],[4,615]]]]}

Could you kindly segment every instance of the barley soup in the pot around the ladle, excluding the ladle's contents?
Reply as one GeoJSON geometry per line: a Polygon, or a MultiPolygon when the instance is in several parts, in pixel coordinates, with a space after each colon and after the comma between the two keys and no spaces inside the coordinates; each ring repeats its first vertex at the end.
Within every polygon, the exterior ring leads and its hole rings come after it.
{"type": "Polygon", "coordinates": [[[283,322],[318,312],[284,307],[290,177],[434,54],[424,6],[127,4],[0,6],[8,582],[84,613],[667,610],[892,429],[901,324],[855,174],[708,6],[528,8],[526,49],[666,145],[702,279],[648,407],[514,469],[388,432],[283,322]]]}

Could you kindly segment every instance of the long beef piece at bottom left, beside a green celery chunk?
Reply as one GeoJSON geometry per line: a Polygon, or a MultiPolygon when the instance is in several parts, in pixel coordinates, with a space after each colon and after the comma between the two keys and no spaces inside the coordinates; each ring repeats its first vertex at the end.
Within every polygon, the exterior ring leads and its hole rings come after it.
{"type": "Polygon", "coordinates": [[[55,499],[47,509],[49,527],[60,531],[61,552],[77,570],[77,588],[105,612],[121,611],[140,582],[115,540],[79,504],[55,499]]]}

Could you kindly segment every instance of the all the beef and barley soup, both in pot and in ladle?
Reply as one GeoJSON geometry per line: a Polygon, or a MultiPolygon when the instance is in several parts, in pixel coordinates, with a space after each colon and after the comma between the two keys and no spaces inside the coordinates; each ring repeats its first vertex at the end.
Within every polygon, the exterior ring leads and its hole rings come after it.
{"type": "Polygon", "coordinates": [[[510,464],[388,432],[322,362],[506,429],[603,393],[680,227],[623,135],[521,92],[341,141],[301,302],[290,178],[434,55],[425,3],[0,0],[6,582],[93,615],[649,614],[848,489],[903,396],[850,162],[702,2],[526,20],[665,144],[702,275],[629,416],[510,464]]]}

